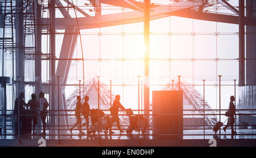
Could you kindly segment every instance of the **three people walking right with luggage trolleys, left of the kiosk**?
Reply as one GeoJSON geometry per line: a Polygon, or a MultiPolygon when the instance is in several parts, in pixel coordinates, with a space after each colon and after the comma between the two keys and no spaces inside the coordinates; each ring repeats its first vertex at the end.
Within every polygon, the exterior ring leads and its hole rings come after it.
{"type": "MultiPolygon", "coordinates": [[[[89,106],[89,97],[88,95],[86,95],[84,97],[84,103],[81,103],[81,97],[80,95],[78,95],[77,97],[77,102],[76,102],[76,110],[75,110],[75,116],[76,116],[76,123],[73,124],[73,126],[71,128],[69,128],[69,131],[72,134],[72,130],[73,128],[75,128],[76,126],[79,129],[80,134],[85,134],[84,132],[82,132],[82,126],[84,126],[86,124],[86,129],[89,130],[89,115],[90,115],[90,106],[89,106]],[[83,116],[85,118],[85,123],[81,124],[81,116],[83,116]]],[[[112,115],[112,121],[110,123],[110,134],[113,134],[114,132],[112,131],[112,126],[114,122],[117,122],[117,126],[119,128],[120,132],[124,132],[123,130],[121,130],[120,127],[120,123],[119,123],[119,117],[118,117],[118,111],[119,109],[126,111],[125,107],[123,107],[121,105],[120,101],[120,95],[115,95],[115,100],[113,102],[113,106],[110,108],[110,113],[112,115]]]]}

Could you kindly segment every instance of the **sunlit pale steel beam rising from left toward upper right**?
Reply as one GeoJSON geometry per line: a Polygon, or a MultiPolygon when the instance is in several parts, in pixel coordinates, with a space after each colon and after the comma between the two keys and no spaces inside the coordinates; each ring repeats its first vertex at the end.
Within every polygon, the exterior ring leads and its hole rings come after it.
{"type": "MultiPolygon", "coordinates": [[[[187,1],[188,2],[188,1],[187,1]]],[[[160,19],[171,16],[171,13],[174,11],[179,11],[181,9],[189,9],[193,6],[199,6],[201,3],[176,3],[172,5],[172,11],[169,9],[169,5],[156,7],[151,9],[150,11],[150,19],[160,19]],[[181,6],[179,6],[181,5],[181,6]]],[[[176,16],[176,15],[175,15],[176,16]]],[[[216,15],[214,14],[214,18],[216,20],[216,15]]],[[[74,25],[77,26],[76,18],[56,18],[56,29],[64,30],[66,26],[74,25]]],[[[82,17],[77,18],[79,23],[80,30],[88,29],[88,28],[98,28],[98,27],[108,27],[108,26],[117,26],[120,24],[128,24],[128,23],[137,23],[144,21],[144,13],[141,11],[128,11],[124,13],[115,13],[115,14],[107,14],[101,15],[100,20],[97,20],[95,16],[90,17],[82,17]],[[98,23],[100,21],[100,23],[98,23]]],[[[47,18],[43,18],[44,26],[47,26],[47,18]]]]}

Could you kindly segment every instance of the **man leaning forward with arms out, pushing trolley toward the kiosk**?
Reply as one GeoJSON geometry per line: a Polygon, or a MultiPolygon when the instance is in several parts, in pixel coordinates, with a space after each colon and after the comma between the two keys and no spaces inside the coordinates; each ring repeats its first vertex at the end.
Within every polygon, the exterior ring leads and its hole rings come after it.
{"type": "Polygon", "coordinates": [[[112,115],[112,122],[110,124],[110,130],[109,130],[110,134],[114,134],[114,132],[112,131],[112,125],[114,122],[117,122],[117,127],[119,128],[120,133],[124,132],[123,130],[121,130],[121,127],[120,127],[118,111],[119,111],[119,108],[123,111],[126,111],[126,109],[121,105],[119,101],[120,101],[120,95],[115,95],[113,106],[110,107],[110,113],[112,115]]]}

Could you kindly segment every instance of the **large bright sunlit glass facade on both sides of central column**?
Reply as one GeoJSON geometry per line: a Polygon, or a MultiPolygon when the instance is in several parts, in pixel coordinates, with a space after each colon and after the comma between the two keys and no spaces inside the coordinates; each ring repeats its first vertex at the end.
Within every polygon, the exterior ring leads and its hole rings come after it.
{"type": "MultiPolygon", "coordinates": [[[[171,6],[172,2],[167,2],[171,6]]],[[[238,6],[238,1],[229,3],[238,6]]],[[[126,9],[104,4],[101,7],[104,14],[113,10],[123,13],[125,20],[126,9]]],[[[220,4],[204,10],[232,14],[220,4]]],[[[112,80],[113,88],[116,87],[113,93],[121,95],[123,105],[137,109],[137,76],[142,76],[140,80],[143,81],[143,22],[81,30],[81,40],[85,80],[100,76],[107,85],[112,80]]],[[[78,39],[73,58],[80,57],[78,39]]],[[[218,75],[222,75],[221,109],[228,109],[229,97],[234,95],[234,80],[238,83],[238,24],[178,16],[151,20],[150,91],[163,89],[178,75],[202,95],[205,80],[205,99],[217,110],[220,108],[218,75]]],[[[82,61],[72,61],[68,83],[79,84],[79,80],[82,80],[82,61]]],[[[72,92],[70,89],[66,88],[66,95],[72,92]]]]}

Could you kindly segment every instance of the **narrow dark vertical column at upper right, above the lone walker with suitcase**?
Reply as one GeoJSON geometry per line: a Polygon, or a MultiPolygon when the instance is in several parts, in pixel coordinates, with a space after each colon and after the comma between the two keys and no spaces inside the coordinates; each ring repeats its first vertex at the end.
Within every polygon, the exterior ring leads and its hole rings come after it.
{"type": "Polygon", "coordinates": [[[239,0],[239,86],[245,85],[245,0],[239,0]]]}

